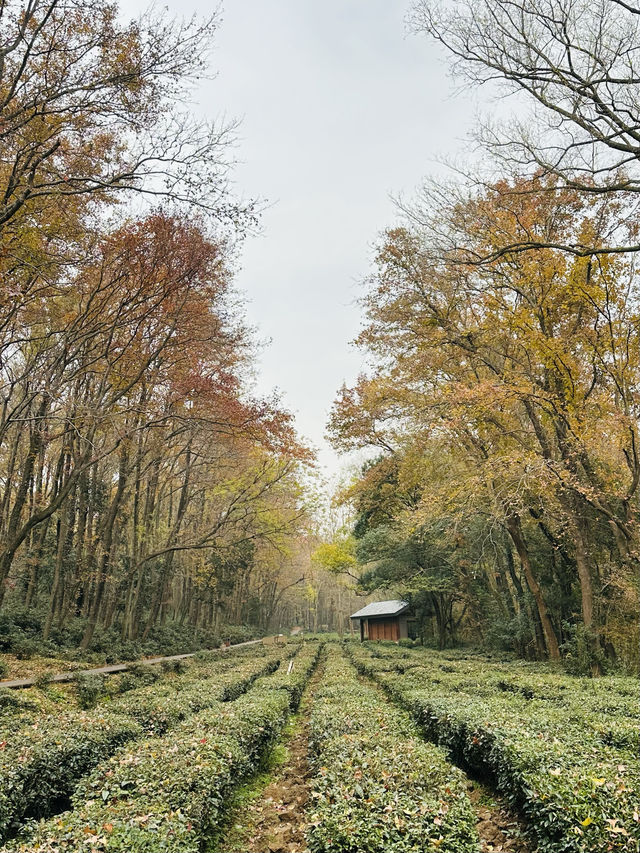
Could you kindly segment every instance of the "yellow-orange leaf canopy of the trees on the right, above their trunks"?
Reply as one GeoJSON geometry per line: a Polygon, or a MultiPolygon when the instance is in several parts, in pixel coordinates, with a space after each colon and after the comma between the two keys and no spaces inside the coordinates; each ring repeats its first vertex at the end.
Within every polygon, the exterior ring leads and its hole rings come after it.
{"type": "MultiPolygon", "coordinates": [[[[629,258],[559,248],[603,238],[619,224],[618,207],[542,176],[425,197],[432,206],[410,209],[410,227],[384,235],[357,340],[371,370],[339,392],[335,445],[393,455],[397,482],[419,496],[404,509],[389,503],[393,523],[411,535],[440,524],[448,543],[468,527],[493,540],[518,512],[539,521],[527,537],[542,531],[551,557],[562,551],[570,563],[578,516],[593,531],[594,577],[598,561],[630,565],[637,525],[624,501],[640,483],[629,419],[640,391],[637,273],[629,258]]],[[[363,471],[349,497],[359,501],[370,479],[363,471]]],[[[589,614],[581,571],[574,582],[589,614]]]]}

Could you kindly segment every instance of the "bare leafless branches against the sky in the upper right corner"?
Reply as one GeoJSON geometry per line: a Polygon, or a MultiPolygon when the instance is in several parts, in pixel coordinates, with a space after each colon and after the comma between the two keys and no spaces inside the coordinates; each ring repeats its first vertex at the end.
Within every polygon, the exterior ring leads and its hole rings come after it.
{"type": "MultiPolygon", "coordinates": [[[[469,84],[498,81],[531,112],[480,139],[502,169],[549,187],[618,194],[635,218],[640,192],[640,7],[621,0],[418,0],[410,24],[441,42],[469,84]]],[[[552,189],[552,191],[554,191],[552,189]]],[[[547,245],[531,241],[526,248],[547,245]]],[[[511,247],[513,248],[513,247],[511,247]]],[[[576,254],[640,250],[634,234],[576,254]]]]}

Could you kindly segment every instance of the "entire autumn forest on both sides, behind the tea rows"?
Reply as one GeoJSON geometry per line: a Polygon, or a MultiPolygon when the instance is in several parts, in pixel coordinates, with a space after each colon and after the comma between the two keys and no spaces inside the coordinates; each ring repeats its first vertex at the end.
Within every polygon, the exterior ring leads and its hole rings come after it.
{"type": "Polygon", "coordinates": [[[414,4],[463,81],[533,107],[481,127],[482,162],[425,181],[379,237],[370,370],[328,426],[367,459],[336,532],[313,450],[254,391],[234,271],[260,211],[234,195],[235,126],[188,107],[217,15],[3,4],[4,651],[343,631],[391,590],[441,649],[637,665],[637,95],[615,76],[636,23],[605,37],[608,4],[559,4],[565,32],[543,6],[516,25],[488,0],[414,4]]]}

